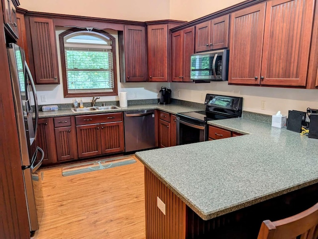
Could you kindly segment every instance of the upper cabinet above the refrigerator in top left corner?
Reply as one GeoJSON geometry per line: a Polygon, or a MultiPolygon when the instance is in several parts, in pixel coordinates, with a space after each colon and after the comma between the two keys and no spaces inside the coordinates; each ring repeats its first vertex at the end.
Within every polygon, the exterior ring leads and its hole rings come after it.
{"type": "Polygon", "coordinates": [[[18,38],[18,28],[16,23],[16,5],[12,0],[2,0],[4,24],[13,38],[18,38]]]}

